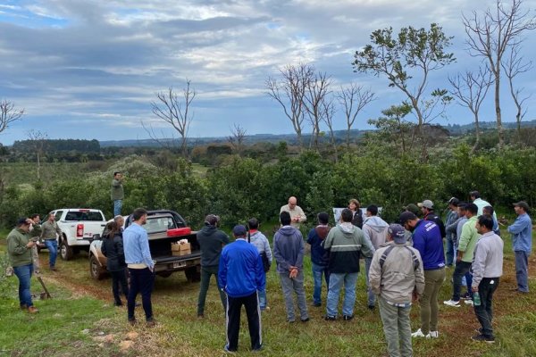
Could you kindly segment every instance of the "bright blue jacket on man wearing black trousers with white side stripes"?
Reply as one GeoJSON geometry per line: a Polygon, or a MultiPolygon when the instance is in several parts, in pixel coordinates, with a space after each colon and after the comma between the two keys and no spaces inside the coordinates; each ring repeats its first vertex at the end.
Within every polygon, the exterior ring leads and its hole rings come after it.
{"type": "Polygon", "coordinates": [[[218,281],[230,297],[242,297],[264,290],[263,260],[255,245],[243,238],[225,245],[220,258],[218,281]]]}

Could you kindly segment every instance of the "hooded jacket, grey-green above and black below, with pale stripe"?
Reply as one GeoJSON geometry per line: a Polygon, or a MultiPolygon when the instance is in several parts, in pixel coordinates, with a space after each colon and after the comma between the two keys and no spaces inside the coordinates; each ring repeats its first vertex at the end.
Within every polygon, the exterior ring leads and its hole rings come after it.
{"type": "Polygon", "coordinates": [[[324,249],[330,251],[328,264],[330,273],[347,274],[359,272],[359,256],[372,257],[374,247],[370,239],[364,237],[360,228],[350,222],[340,223],[331,228],[323,241],[324,249]]]}

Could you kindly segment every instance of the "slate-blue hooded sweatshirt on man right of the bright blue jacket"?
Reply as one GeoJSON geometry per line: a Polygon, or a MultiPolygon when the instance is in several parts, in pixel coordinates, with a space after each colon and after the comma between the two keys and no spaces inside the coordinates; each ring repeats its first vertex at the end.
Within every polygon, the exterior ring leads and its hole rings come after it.
{"type": "Polygon", "coordinates": [[[297,228],[283,226],[273,236],[273,257],[278,273],[289,273],[290,267],[302,270],[304,251],[304,239],[297,228]]]}

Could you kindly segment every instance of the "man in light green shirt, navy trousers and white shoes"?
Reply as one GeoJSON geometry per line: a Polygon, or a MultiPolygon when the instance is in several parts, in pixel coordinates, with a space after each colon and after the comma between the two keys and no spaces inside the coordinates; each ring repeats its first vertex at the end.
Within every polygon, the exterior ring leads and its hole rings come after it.
{"type": "Polygon", "coordinates": [[[467,221],[462,228],[462,235],[460,236],[457,247],[456,268],[452,274],[452,298],[443,302],[448,306],[460,306],[460,291],[464,276],[467,279],[467,289],[471,286],[472,278],[470,275],[466,275],[466,273],[471,270],[474,246],[480,238],[480,234],[476,229],[476,212],[478,212],[476,204],[469,203],[465,206],[465,217],[467,217],[467,221]]]}

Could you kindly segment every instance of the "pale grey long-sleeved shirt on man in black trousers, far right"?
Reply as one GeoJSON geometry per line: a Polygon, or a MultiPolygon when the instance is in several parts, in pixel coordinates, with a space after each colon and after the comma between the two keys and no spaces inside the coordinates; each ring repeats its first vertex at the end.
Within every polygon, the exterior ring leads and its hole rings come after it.
{"type": "Polygon", "coordinates": [[[488,232],[482,235],[474,248],[473,283],[478,287],[482,278],[502,276],[504,242],[498,235],[488,232]]]}

